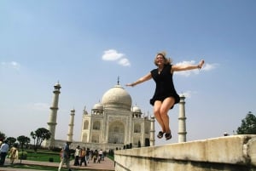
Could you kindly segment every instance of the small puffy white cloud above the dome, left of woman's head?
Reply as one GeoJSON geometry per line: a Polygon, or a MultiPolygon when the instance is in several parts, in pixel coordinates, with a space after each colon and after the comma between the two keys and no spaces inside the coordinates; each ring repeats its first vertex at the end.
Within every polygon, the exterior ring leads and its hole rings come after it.
{"type": "Polygon", "coordinates": [[[102,60],[117,61],[117,63],[121,66],[131,66],[130,61],[125,58],[125,54],[119,53],[115,49],[108,49],[104,51],[104,54],[102,55],[102,60]]]}

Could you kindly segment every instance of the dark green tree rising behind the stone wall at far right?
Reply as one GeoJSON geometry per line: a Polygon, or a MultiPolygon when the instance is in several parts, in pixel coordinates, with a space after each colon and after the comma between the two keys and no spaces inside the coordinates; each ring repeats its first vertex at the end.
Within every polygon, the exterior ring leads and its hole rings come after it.
{"type": "Polygon", "coordinates": [[[241,126],[236,130],[237,134],[256,134],[256,117],[252,111],[247,113],[247,116],[241,120],[241,126]]]}

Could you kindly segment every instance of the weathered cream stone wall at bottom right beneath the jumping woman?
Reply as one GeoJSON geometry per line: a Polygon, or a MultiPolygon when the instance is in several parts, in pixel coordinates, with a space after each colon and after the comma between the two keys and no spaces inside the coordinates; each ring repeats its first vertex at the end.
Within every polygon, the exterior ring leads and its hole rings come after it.
{"type": "Polygon", "coordinates": [[[256,171],[256,135],[115,151],[115,171],[256,171]]]}

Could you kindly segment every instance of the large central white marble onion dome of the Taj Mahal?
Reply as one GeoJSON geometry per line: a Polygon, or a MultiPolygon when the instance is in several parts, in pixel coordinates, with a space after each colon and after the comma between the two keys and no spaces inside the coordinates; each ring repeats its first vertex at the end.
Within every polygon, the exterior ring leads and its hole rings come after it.
{"type": "Polygon", "coordinates": [[[103,94],[102,104],[105,108],[123,108],[131,111],[131,95],[118,84],[103,94]]]}

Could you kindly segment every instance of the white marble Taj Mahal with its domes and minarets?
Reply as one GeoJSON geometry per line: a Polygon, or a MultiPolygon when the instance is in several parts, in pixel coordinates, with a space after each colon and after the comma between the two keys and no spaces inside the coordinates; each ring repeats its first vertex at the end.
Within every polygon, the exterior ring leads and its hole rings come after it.
{"type": "MultiPolygon", "coordinates": [[[[154,145],[154,117],[143,114],[141,109],[132,106],[131,95],[119,85],[119,80],[113,88],[102,95],[101,102],[96,103],[90,112],[84,108],[81,119],[82,128],[80,141],[73,140],[75,110],[70,111],[70,122],[67,128],[67,140],[55,140],[57,125],[57,111],[61,84],[56,83],[53,91],[52,105],[49,107],[48,130],[51,133],[49,140],[44,140],[45,148],[62,147],[67,141],[72,142],[71,148],[77,145],[102,149],[103,151],[130,147],[154,145]]],[[[184,97],[181,96],[178,140],[186,140],[184,117],[184,97]]]]}

